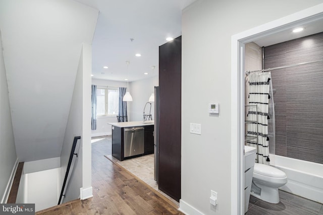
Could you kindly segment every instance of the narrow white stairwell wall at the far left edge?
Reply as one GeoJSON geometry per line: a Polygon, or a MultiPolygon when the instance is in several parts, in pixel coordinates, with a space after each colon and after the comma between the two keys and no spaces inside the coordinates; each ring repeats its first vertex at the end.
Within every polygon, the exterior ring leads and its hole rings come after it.
{"type": "Polygon", "coordinates": [[[0,203],[7,201],[18,162],[8,94],[0,29],[0,203]]]}

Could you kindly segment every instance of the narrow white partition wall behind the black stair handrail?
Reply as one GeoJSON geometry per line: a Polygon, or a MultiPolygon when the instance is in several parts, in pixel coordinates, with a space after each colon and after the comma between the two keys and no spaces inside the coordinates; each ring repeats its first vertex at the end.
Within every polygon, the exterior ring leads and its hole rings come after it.
{"type": "MultiPolygon", "coordinates": [[[[73,97],[64,136],[61,153],[61,187],[69,162],[69,156],[75,136],[81,136],[78,140],[74,156],[73,172],[66,186],[64,201],[74,200],[80,197],[80,188],[91,189],[91,47],[83,44],[79,66],[74,85],[73,97]],[[85,166],[83,166],[85,164],[85,166]]],[[[72,171],[73,170],[73,171],[72,171]]],[[[90,194],[92,195],[92,193],[90,194]]]]}

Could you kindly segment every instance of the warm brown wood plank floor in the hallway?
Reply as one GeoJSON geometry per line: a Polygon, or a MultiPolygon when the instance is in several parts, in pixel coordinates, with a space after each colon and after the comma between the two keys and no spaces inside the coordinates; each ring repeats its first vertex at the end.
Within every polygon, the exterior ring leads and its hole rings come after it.
{"type": "Polygon", "coordinates": [[[92,198],[77,199],[36,214],[183,214],[173,202],[106,159],[105,150],[105,146],[92,144],[92,198]]]}

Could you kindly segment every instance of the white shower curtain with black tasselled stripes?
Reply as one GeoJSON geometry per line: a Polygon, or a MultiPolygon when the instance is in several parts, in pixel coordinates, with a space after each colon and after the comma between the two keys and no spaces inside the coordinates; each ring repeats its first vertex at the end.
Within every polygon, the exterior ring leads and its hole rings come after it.
{"type": "MultiPolygon", "coordinates": [[[[246,77],[246,120],[252,121],[246,126],[247,136],[254,136],[257,141],[246,141],[246,145],[257,148],[256,162],[270,165],[269,141],[275,141],[274,102],[271,87],[271,73],[252,73],[246,77]],[[271,107],[270,107],[271,106],[271,107]],[[271,133],[268,134],[268,120],[271,133]]],[[[274,143],[275,146],[275,143],[274,143]]]]}

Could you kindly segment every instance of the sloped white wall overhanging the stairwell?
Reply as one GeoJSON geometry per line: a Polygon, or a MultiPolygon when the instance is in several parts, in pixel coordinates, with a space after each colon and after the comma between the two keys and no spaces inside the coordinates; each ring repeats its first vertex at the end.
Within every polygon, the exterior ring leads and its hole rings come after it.
{"type": "Polygon", "coordinates": [[[81,44],[98,11],[72,0],[0,1],[10,107],[20,161],[59,157],[81,44]]]}

